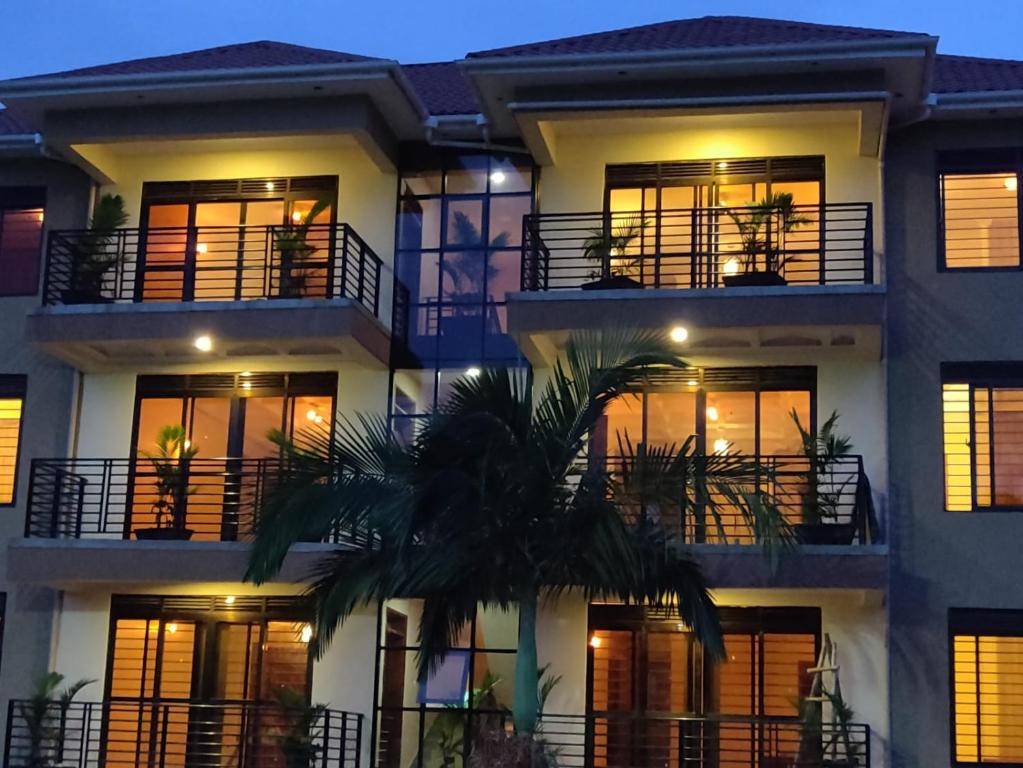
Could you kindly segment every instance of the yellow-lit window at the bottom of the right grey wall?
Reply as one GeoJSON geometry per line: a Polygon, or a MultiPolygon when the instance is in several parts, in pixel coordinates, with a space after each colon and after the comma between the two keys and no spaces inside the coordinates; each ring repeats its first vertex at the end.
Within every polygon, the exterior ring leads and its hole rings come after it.
{"type": "Polygon", "coordinates": [[[1023,612],[948,614],[958,764],[1023,764],[1023,612]]]}

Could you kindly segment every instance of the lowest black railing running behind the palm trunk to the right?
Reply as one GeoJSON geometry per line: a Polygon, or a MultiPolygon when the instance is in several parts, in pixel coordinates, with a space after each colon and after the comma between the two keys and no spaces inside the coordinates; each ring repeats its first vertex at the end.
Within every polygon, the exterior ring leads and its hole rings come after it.
{"type": "MultiPolygon", "coordinates": [[[[414,711],[418,713],[419,711],[414,711]]],[[[414,755],[411,765],[469,765],[474,750],[485,754],[489,731],[507,732],[506,711],[454,708],[424,710],[419,717],[442,713],[455,738],[445,740],[435,728],[405,727],[402,744],[382,733],[383,755],[414,755]],[[464,737],[463,737],[464,735],[464,737]],[[411,742],[415,739],[415,742],[411,742]],[[421,758],[421,762],[420,762],[421,758]]],[[[406,714],[413,711],[406,710],[406,714]]],[[[382,715],[385,713],[381,713],[382,715]]],[[[411,723],[409,724],[411,725],[411,723]]],[[[861,723],[798,718],[728,715],[669,716],[631,713],[545,714],[537,738],[559,768],[870,768],[871,729],[861,723]]]]}

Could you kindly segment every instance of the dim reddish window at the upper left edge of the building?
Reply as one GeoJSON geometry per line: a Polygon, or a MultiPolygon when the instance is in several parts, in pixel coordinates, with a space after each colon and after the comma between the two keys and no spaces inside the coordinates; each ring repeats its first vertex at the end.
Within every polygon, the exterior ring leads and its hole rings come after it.
{"type": "Polygon", "coordinates": [[[42,187],[0,187],[0,296],[39,289],[45,206],[42,187]]]}

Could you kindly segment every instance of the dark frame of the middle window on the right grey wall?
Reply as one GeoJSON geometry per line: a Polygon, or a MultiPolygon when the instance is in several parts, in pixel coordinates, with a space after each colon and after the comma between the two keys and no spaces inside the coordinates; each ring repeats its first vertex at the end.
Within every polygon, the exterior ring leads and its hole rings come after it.
{"type": "MultiPolygon", "coordinates": [[[[977,504],[977,462],[975,460],[976,443],[976,417],[974,411],[974,390],[975,389],[1018,389],[1023,391],[1023,363],[1017,362],[978,362],[978,363],[941,363],[941,389],[939,392],[940,424],[941,435],[941,477],[942,477],[942,499],[941,506],[949,514],[983,514],[992,512],[995,514],[1023,512],[1023,504],[977,504]],[[945,408],[944,392],[946,385],[966,385],[969,390],[969,431],[970,431],[970,495],[971,509],[949,509],[948,508],[948,464],[945,453],[945,408]]],[[[993,422],[990,426],[993,434],[993,422]]],[[[995,468],[995,456],[993,452],[993,441],[991,443],[991,458],[989,461],[990,472],[993,477],[995,468]]],[[[993,502],[993,494],[992,494],[993,502]]]]}

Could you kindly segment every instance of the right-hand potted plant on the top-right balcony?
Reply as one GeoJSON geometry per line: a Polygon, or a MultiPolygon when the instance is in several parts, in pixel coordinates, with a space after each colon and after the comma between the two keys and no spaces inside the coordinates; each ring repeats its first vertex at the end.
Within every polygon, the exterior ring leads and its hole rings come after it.
{"type": "Polygon", "coordinates": [[[810,223],[796,210],[792,192],[774,192],[728,216],[739,230],[740,271],[722,276],[722,282],[728,287],[788,284],[782,276],[786,235],[810,223]]]}

